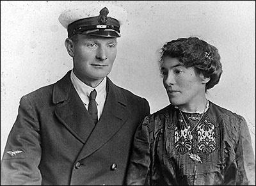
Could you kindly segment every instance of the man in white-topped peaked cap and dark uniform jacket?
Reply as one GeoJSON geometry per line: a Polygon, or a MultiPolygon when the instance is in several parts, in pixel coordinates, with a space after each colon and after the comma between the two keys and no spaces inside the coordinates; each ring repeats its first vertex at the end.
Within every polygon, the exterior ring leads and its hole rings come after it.
{"type": "Polygon", "coordinates": [[[134,132],[149,105],[108,78],[123,15],[100,4],[61,13],[74,67],[21,98],[1,185],[124,184],[134,132]]]}

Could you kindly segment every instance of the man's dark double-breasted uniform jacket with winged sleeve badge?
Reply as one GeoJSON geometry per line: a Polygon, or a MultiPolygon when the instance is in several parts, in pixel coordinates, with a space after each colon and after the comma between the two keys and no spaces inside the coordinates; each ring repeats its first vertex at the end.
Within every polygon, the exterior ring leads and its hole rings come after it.
{"type": "Polygon", "coordinates": [[[122,185],[136,127],[149,114],[145,98],[107,78],[95,125],[70,81],[20,100],[1,162],[1,185],[122,185]]]}

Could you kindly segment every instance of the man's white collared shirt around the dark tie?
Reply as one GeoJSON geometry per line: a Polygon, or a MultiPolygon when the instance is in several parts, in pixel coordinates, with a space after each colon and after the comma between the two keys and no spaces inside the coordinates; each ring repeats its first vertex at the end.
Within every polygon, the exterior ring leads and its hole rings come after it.
{"type": "Polygon", "coordinates": [[[92,87],[86,85],[80,79],[78,79],[78,77],[74,74],[73,70],[71,71],[70,78],[71,78],[71,82],[72,82],[74,88],[76,89],[79,97],[83,101],[84,106],[86,107],[87,110],[88,110],[88,105],[89,105],[89,95],[90,95],[91,91],[93,91],[93,89],[96,89],[97,96],[95,98],[95,101],[97,103],[98,120],[99,120],[100,116],[102,114],[103,108],[104,108],[106,97],[107,97],[107,91],[106,91],[107,79],[106,79],[106,77],[104,77],[102,82],[100,82],[100,84],[96,88],[92,88],[92,87]]]}

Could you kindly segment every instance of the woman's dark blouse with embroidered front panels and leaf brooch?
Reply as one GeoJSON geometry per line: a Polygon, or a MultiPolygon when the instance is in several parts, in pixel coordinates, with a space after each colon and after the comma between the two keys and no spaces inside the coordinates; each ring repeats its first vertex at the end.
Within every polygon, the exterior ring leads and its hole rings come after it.
{"type": "Polygon", "coordinates": [[[255,156],[242,116],[209,101],[191,140],[188,130],[196,121],[189,123],[173,105],[148,115],[134,137],[127,185],[255,185],[255,156]]]}

